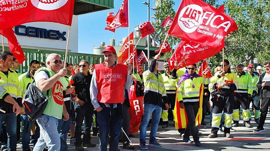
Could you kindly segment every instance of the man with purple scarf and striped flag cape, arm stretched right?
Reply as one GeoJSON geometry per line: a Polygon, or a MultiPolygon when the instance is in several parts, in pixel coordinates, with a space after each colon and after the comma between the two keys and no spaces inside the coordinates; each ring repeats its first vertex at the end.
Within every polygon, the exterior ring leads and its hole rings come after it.
{"type": "Polygon", "coordinates": [[[180,108],[185,108],[188,124],[183,137],[183,142],[191,143],[189,139],[192,135],[195,145],[201,146],[198,132],[195,127],[195,118],[199,110],[199,95],[202,84],[209,84],[219,80],[225,72],[221,72],[211,78],[203,78],[196,72],[196,64],[187,66],[186,73],[180,77],[177,89],[177,99],[180,102],[180,108]]]}

